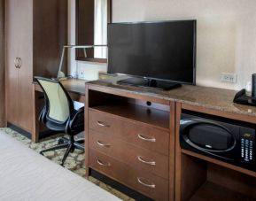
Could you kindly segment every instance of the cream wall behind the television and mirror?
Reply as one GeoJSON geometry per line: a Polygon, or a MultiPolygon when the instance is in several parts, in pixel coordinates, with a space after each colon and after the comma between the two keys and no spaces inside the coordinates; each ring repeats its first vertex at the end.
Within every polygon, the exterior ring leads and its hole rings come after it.
{"type": "MultiPolygon", "coordinates": [[[[241,89],[256,73],[255,9],[256,0],[112,0],[112,19],[197,19],[197,84],[241,89]],[[221,82],[222,72],[237,73],[237,84],[221,82]]],[[[84,67],[89,79],[97,79],[98,70],[106,69],[73,63],[84,67]]]]}

